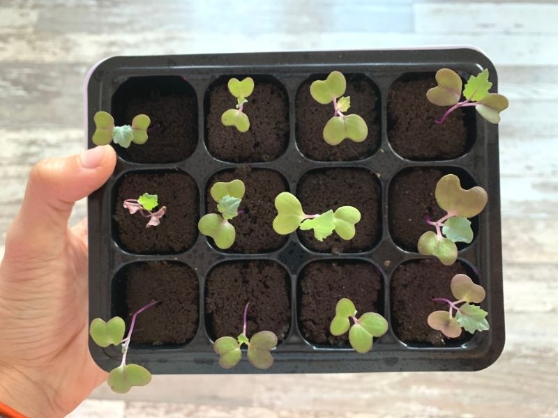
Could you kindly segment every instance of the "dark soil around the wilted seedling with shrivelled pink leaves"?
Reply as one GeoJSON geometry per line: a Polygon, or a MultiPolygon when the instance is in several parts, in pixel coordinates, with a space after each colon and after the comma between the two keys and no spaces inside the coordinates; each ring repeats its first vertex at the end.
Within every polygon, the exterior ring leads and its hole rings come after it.
{"type": "Polygon", "coordinates": [[[199,195],[195,181],[179,171],[130,173],[116,186],[114,231],[126,251],[137,254],[176,254],[192,247],[197,238],[199,195]],[[144,193],[157,194],[159,206],[167,207],[158,226],[146,228],[149,218],[130,215],[126,199],[144,193]]]}

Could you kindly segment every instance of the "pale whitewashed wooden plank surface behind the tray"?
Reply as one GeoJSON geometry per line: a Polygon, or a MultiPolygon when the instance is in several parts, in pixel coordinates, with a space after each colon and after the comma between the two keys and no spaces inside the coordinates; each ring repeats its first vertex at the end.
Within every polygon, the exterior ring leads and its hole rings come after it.
{"type": "Polygon", "coordinates": [[[476,45],[511,101],[507,341],[490,369],[156,376],[126,397],[101,387],[73,417],[558,417],[557,22],[553,1],[0,0],[0,243],[31,165],[82,149],[84,75],[105,56],[476,45]]]}

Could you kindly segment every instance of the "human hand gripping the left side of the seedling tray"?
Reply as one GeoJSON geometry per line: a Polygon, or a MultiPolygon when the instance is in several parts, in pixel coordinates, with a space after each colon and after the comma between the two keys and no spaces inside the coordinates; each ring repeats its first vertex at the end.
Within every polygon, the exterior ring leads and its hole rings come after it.
{"type": "Polygon", "coordinates": [[[31,171],[0,264],[0,401],[29,417],[65,416],[107,378],[88,348],[87,225],[74,203],[116,164],[111,146],[31,171]]]}

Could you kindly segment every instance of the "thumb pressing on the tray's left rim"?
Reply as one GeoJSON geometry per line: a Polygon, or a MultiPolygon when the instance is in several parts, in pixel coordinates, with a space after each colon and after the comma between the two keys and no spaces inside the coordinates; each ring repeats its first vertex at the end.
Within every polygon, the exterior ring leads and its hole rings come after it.
{"type": "Polygon", "coordinates": [[[61,254],[74,203],[101,187],[115,164],[112,146],[38,162],[29,175],[20,213],[8,231],[6,258],[61,254]]]}

